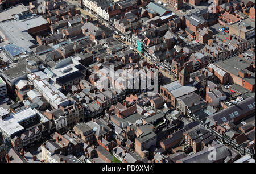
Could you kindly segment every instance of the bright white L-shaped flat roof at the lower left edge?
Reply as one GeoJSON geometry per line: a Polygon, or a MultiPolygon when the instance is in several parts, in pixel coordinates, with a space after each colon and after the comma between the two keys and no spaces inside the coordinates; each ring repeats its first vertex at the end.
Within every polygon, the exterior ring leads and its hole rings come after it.
{"type": "Polygon", "coordinates": [[[0,129],[6,132],[9,136],[15,134],[24,129],[19,122],[22,122],[24,119],[34,117],[36,115],[35,111],[30,107],[18,111],[17,113],[10,115],[4,120],[0,119],[0,129]]]}

